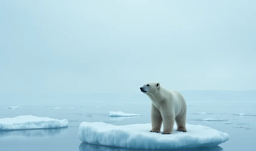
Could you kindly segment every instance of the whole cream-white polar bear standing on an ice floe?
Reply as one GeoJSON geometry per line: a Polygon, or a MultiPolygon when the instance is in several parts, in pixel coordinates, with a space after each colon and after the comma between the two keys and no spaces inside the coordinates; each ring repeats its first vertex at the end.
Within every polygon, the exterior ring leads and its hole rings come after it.
{"type": "Polygon", "coordinates": [[[162,134],[172,134],[174,120],[177,131],[186,132],[187,105],[182,94],[175,90],[167,90],[158,82],[150,82],[140,87],[152,101],[150,132],[160,132],[162,122],[164,131],[162,134]]]}

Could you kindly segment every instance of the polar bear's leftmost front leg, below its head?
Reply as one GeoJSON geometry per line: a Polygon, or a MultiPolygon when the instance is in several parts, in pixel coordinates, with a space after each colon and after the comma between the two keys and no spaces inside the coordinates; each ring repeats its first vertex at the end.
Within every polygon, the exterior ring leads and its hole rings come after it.
{"type": "Polygon", "coordinates": [[[159,110],[155,107],[155,105],[152,103],[151,106],[151,125],[152,130],[150,132],[156,132],[159,133],[162,125],[162,117],[159,112],[159,110]]]}

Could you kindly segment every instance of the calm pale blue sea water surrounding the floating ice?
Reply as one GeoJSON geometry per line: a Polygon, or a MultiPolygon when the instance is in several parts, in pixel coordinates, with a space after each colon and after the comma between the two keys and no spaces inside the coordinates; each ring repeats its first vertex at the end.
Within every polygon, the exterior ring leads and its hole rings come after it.
{"type": "MultiPolygon", "coordinates": [[[[187,123],[209,126],[227,132],[230,140],[216,147],[193,150],[252,151],[256,150],[256,102],[187,102],[187,123]],[[210,114],[195,114],[195,113],[210,114]],[[240,116],[238,114],[248,114],[240,116]],[[203,121],[213,118],[226,121],[203,121]],[[230,122],[230,124],[225,124],[230,122]]],[[[150,123],[151,102],[128,103],[48,103],[48,104],[0,104],[0,118],[34,115],[56,119],[68,119],[69,127],[61,129],[0,131],[0,150],[8,151],[122,151],[118,147],[107,147],[82,143],[78,138],[81,122],[102,121],[113,125],[150,123]],[[22,108],[8,109],[9,106],[22,108]],[[55,109],[55,108],[61,109],[55,109]],[[73,108],[73,109],[67,109],[73,108]],[[109,111],[141,114],[139,117],[109,118],[109,111]]]]}

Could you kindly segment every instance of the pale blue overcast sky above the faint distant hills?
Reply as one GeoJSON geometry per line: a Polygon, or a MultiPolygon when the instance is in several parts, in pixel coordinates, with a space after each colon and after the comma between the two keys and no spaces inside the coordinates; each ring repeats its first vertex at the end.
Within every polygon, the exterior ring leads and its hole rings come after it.
{"type": "Polygon", "coordinates": [[[0,93],[256,89],[256,1],[0,1],[0,93]]]}

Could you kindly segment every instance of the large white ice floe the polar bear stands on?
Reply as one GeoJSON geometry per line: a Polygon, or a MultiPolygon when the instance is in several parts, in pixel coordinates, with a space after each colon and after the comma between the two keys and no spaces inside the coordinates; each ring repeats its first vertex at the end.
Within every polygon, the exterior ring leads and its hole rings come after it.
{"type": "MultiPolygon", "coordinates": [[[[216,146],[229,140],[227,133],[202,125],[186,124],[187,132],[152,133],[151,123],[116,126],[103,122],[82,122],[78,136],[84,143],[134,149],[184,149],[216,146]]],[[[163,131],[163,127],[161,132],[163,131]]]]}

